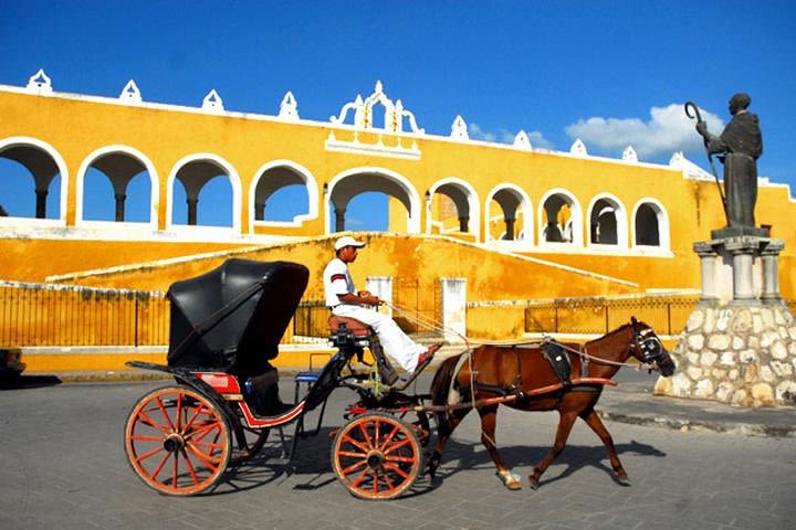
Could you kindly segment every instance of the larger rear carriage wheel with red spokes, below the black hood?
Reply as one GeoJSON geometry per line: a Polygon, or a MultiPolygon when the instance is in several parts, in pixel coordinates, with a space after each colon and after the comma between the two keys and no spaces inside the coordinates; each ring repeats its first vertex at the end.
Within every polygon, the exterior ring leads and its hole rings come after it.
{"type": "Polygon", "coordinates": [[[161,494],[207,490],[227,468],[231,447],[221,411],[186,386],[149,392],[127,417],[127,460],[142,480],[161,494]]]}

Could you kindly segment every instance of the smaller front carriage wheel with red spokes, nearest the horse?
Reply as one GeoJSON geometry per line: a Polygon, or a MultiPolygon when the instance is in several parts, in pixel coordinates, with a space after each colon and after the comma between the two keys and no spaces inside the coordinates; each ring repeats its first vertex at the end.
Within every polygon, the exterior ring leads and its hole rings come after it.
{"type": "Polygon", "coordinates": [[[343,426],[332,444],[335,475],[359,498],[392,499],[420,473],[422,454],[413,430],[386,414],[365,414],[343,426]]]}

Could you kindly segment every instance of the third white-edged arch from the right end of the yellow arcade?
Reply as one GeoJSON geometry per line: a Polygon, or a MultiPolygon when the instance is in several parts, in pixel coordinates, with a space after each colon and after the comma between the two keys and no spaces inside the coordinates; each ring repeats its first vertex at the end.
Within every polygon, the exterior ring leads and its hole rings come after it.
{"type": "Polygon", "coordinates": [[[575,194],[564,188],[542,197],[538,210],[540,246],[583,246],[583,210],[575,194]]]}

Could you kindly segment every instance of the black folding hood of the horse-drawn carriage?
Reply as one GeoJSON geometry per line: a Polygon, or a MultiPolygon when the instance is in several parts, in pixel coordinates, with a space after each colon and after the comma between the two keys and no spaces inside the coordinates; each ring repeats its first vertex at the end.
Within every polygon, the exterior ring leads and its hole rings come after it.
{"type": "Polygon", "coordinates": [[[168,364],[262,373],[279,353],[308,277],[297,263],[235,258],[172,284],[168,364]]]}

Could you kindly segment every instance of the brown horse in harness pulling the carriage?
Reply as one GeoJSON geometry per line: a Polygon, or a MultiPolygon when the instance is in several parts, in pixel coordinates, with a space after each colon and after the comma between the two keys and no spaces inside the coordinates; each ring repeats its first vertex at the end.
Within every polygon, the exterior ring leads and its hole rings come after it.
{"type": "Polygon", "coordinates": [[[427,471],[433,477],[448,438],[474,404],[481,416],[481,442],[498,467],[498,476],[509,489],[520,489],[495,446],[499,404],[521,411],[558,411],[558,430],[553,448],[528,477],[538,487],[540,477],[564,451],[575,420],[580,417],[603,441],[620,484],[629,485],[614,441],[594,407],[604,384],[630,357],[669,377],[674,362],[652,328],[635,318],[599,339],[578,344],[545,341],[536,344],[480,346],[447,359],[434,374],[431,398],[437,411],[437,447],[427,471]],[[568,358],[568,363],[566,362],[568,358]],[[473,374],[475,374],[473,377],[473,374]],[[473,395],[474,391],[474,395],[473,395]]]}

